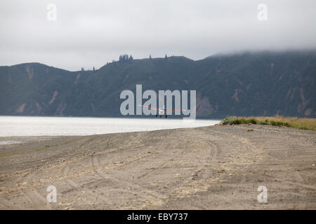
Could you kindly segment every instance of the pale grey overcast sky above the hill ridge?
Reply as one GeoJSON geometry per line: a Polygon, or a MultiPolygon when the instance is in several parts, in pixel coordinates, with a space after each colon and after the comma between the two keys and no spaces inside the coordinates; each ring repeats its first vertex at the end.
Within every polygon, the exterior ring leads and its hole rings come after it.
{"type": "Polygon", "coordinates": [[[0,65],[41,62],[75,71],[98,69],[124,53],[202,59],[236,50],[315,49],[315,11],[315,0],[1,0],[0,65]],[[56,20],[48,20],[48,3],[56,6],[56,20]],[[260,3],[268,20],[258,20],[260,3]]]}

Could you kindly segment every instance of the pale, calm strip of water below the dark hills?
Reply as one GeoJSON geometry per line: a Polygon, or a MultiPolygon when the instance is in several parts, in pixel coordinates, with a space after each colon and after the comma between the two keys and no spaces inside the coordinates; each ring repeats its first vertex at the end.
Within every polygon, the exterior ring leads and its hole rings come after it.
{"type": "Polygon", "coordinates": [[[0,116],[0,137],[89,135],[116,132],[139,132],[202,127],[215,125],[220,120],[195,120],[185,122],[169,118],[54,118],[0,116]]]}

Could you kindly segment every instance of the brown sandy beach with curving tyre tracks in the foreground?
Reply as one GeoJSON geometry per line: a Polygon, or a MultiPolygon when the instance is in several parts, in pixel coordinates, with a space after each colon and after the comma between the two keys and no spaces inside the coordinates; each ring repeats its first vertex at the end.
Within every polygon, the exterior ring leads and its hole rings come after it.
{"type": "Polygon", "coordinates": [[[0,141],[20,142],[0,145],[0,209],[316,209],[315,131],[216,125],[0,141]]]}

